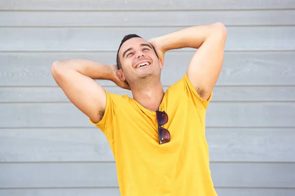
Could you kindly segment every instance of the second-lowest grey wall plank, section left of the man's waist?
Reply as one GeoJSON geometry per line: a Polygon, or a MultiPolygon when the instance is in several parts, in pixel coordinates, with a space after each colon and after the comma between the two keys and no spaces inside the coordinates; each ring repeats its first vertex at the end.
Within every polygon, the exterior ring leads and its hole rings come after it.
{"type": "Polygon", "coordinates": [[[116,186],[115,163],[0,164],[0,188],[116,186]]]}

